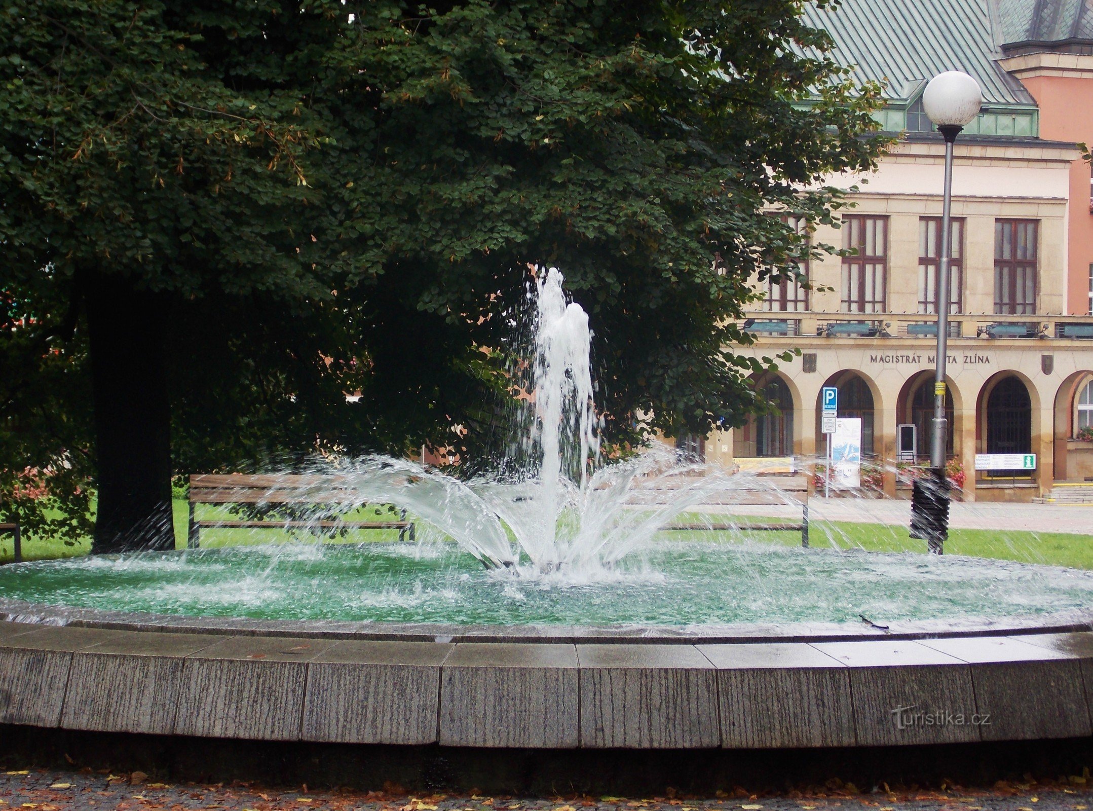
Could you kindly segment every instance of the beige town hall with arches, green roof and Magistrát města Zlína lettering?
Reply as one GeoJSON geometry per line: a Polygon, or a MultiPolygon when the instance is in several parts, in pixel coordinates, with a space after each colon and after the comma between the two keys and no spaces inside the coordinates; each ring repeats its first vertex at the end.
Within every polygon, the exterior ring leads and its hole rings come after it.
{"type": "Polygon", "coordinates": [[[896,471],[897,426],[915,426],[910,463],[928,463],[944,154],[920,96],[930,77],[959,69],[979,81],[985,111],[955,146],[949,456],[965,472],[965,499],[1027,501],[1057,482],[1093,481],[1093,442],[1081,438],[1093,426],[1093,215],[1089,164],[1076,145],[1093,143],[1093,116],[1081,122],[1093,110],[1093,9],[1071,9],[1066,27],[1045,0],[1030,0],[1023,22],[999,22],[994,1],[914,3],[938,20],[961,16],[939,23],[956,39],[937,50],[896,0],[810,12],[846,63],[888,81],[881,120],[904,139],[871,176],[831,178],[859,188],[856,205],[842,228],[819,226],[810,238],[856,255],[802,266],[813,290],[767,285],[749,313],[760,340],[745,352],[801,350],[756,380],[781,413],[692,439],[692,451],[741,466],[823,456],[820,390],[836,386],[839,415],[862,420],[866,479],[889,495],[909,493],[896,471]],[[1044,31],[1037,14],[1055,27],[1044,31]],[[1047,63],[1050,71],[1029,68],[1047,63]],[[1070,90],[1047,93],[1034,74],[1070,90]],[[976,472],[980,454],[1033,454],[1035,468],[976,472]]]}

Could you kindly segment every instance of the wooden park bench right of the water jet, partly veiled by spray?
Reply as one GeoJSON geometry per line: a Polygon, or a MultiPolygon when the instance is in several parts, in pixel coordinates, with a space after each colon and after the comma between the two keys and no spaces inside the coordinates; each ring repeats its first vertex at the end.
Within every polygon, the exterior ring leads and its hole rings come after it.
{"type": "MultiPolygon", "coordinates": [[[[663,506],[670,504],[680,490],[701,480],[695,477],[668,477],[638,484],[628,498],[630,504],[663,506]]],[[[744,505],[769,504],[772,506],[797,506],[801,509],[800,521],[776,522],[728,522],[669,524],[671,530],[759,530],[774,532],[800,532],[801,545],[809,545],[809,482],[803,475],[759,475],[737,483],[731,489],[714,491],[706,495],[702,504],[744,505]]],[[[697,505],[696,505],[697,506],[697,505]]]]}

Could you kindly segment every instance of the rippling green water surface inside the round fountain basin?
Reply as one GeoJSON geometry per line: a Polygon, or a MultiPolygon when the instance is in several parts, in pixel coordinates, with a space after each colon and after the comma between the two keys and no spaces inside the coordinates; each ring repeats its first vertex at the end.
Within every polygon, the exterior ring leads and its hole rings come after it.
{"type": "Polygon", "coordinates": [[[915,553],[662,541],[612,569],[487,571],[450,543],[236,546],[0,569],[9,599],[179,618],[642,628],[1042,623],[1093,572],[915,553]],[[862,619],[865,618],[865,619],[862,619]]]}

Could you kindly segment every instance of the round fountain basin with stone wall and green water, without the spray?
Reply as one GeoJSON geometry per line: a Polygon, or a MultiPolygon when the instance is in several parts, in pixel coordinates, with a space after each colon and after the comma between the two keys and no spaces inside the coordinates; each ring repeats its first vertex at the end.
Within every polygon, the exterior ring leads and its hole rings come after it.
{"type": "Polygon", "coordinates": [[[1084,737],[1091,592],[1053,566],[686,541],[595,577],[446,544],[19,564],[0,724],[589,749],[1084,737]]]}

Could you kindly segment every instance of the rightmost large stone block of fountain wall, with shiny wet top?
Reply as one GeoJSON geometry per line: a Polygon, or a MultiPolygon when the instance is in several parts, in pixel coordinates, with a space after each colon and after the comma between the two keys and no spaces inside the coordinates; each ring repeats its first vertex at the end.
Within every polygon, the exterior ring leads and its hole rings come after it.
{"type": "Polygon", "coordinates": [[[1020,637],[929,639],[921,644],[972,666],[984,740],[1091,733],[1080,659],[1020,637]]]}

